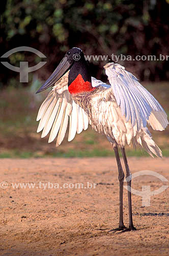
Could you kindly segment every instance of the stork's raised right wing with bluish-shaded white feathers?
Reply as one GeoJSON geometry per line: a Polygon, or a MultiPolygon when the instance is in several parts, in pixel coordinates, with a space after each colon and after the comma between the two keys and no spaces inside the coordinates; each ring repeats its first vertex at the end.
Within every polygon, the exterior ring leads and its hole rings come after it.
{"type": "Polygon", "coordinates": [[[107,63],[104,68],[111,84],[109,90],[112,90],[126,122],[131,120],[132,127],[136,123],[137,131],[147,123],[154,130],[164,130],[168,124],[165,111],[138,79],[117,63],[107,63]]]}

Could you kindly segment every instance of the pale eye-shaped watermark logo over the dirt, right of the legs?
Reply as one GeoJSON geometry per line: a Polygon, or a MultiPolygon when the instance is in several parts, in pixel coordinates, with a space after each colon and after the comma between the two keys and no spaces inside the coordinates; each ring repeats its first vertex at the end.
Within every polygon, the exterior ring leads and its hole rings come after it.
{"type": "MultiPolygon", "coordinates": [[[[140,170],[137,173],[134,173],[126,178],[126,181],[130,181],[135,177],[142,176],[142,175],[150,175],[154,176],[158,179],[160,179],[163,182],[168,182],[168,180],[162,176],[161,174],[158,174],[156,172],[153,172],[152,170],[140,170]]],[[[128,191],[131,191],[132,194],[142,197],[142,206],[150,206],[150,199],[151,196],[158,195],[162,193],[165,189],[167,189],[167,185],[162,185],[160,188],[151,191],[150,185],[142,186],[142,191],[136,190],[130,186],[124,186],[128,191]]]]}

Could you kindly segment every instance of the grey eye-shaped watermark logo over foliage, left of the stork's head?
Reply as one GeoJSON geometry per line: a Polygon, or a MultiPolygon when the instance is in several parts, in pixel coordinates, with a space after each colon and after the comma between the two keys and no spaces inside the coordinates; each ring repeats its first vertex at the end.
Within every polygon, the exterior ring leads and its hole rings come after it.
{"type": "MultiPolygon", "coordinates": [[[[38,51],[32,47],[27,47],[27,46],[21,46],[21,47],[14,48],[14,49],[6,52],[4,55],[2,55],[1,58],[8,58],[11,54],[20,52],[20,51],[33,52],[33,53],[37,54],[40,58],[46,58],[46,56],[43,53],[41,53],[40,51],[38,51]]],[[[28,82],[28,73],[42,68],[45,65],[46,61],[40,61],[37,65],[30,67],[30,68],[28,67],[28,61],[20,61],[20,67],[12,66],[7,61],[1,61],[1,63],[8,69],[13,70],[15,72],[19,72],[20,73],[20,80],[19,80],[20,82],[28,82]]]]}

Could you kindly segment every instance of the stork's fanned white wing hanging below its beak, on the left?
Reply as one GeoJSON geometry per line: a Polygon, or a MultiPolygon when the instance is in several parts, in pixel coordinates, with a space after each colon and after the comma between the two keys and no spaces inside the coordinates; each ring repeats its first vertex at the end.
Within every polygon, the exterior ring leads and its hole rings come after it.
{"type": "Polygon", "coordinates": [[[77,105],[68,91],[67,72],[57,81],[40,106],[37,121],[40,120],[37,133],[42,132],[42,138],[49,132],[48,142],[52,142],[57,137],[56,146],[59,146],[66,134],[69,122],[68,141],[74,139],[76,132],[81,133],[87,130],[89,118],[85,111],[77,105]]]}

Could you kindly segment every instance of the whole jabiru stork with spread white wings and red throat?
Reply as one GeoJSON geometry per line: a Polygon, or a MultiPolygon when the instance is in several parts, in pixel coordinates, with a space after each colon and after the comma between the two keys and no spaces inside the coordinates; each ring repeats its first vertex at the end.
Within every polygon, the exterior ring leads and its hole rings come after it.
{"type": "MultiPolygon", "coordinates": [[[[168,124],[167,115],[159,102],[138,79],[118,63],[104,66],[110,84],[91,77],[89,63],[81,49],[72,48],[60,62],[37,93],[48,87],[52,90],[42,103],[37,120],[37,132],[48,142],[58,135],[59,146],[65,137],[69,121],[71,141],[76,132],[87,130],[88,124],[98,133],[105,134],[115,151],[119,171],[120,218],[119,227],[113,230],[135,230],[132,220],[131,191],[128,189],[129,227],[123,223],[124,172],[119,157],[120,148],[126,168],[128,188],[131,187],[131,172],[125,153],[125,145],[143,147],[151,156],[162,157],[160,148],[152,139],[147,125],[162,131],[168,124]],[[74,56],[76,55],[76,58],[74,56]],[[79,56],[79,57],[78,57],[79,56]]],[[[122,232],[123,232],[122,231],[122,232]]]]}

